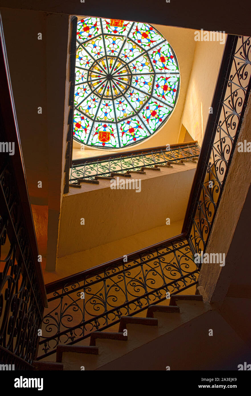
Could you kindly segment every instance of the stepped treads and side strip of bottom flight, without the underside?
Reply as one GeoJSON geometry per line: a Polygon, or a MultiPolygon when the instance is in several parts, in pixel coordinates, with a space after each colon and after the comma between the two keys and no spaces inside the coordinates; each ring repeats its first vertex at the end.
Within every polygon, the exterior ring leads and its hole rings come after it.
{"type": "Polygon", "coordinates": [[[58,345],[56,362],[41,360],[34,362],[33,366],[35,370],[151,369],[151,366],[155,367],[154,360],[158,360],[160,351],[151,358],[148,368],[143,368],[144,362],[143,366],[132,368],[128,355],[141,348],[143,358],[142,349],[146,345],[156,343],[163,336],[173,337],[176,329],[190,326],[190,322],[208,310],[211,307],[203,303],[201,295],[172,295],[169,305],[150,305],[146,318],[122,316],[118,332],[95,331],[91,334],[89,346],[58,345]]]}

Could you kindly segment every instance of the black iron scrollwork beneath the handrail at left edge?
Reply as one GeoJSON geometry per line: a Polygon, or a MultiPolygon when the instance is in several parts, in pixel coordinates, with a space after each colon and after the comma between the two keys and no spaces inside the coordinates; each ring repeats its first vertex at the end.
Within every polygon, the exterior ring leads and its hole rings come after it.
{"type": "Polygon", "coordinates": [[[0,173],[0,207],[0,360],[15,364],[15,369],[30,369],[44,305],[8,164],[0,173]]]}

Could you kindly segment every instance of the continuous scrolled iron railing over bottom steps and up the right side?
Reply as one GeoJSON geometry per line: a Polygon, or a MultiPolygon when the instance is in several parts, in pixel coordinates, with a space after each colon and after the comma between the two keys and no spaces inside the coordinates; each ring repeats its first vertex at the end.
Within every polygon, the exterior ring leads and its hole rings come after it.
{"type": "Polygon", "coordinates": [[[167,292],[196,284],[194,254],[206,247],[250,94],[250,51],[250,38],[228,35],[183,233],[128,255],[126,262],[113,260],[47,285],[39,359],[53,354],[59,343],[84,341],[121,315],[138,314],[164,301],[167,292]]]}

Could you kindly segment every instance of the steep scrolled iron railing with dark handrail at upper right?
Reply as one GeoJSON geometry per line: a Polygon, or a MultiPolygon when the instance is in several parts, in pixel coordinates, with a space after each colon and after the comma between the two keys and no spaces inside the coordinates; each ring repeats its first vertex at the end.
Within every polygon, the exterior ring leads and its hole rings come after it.
{"type": "Polygon", "coordinates": [[[183,232],[205,251],[251,91],[251,38],[227,36],[183,232]]]}

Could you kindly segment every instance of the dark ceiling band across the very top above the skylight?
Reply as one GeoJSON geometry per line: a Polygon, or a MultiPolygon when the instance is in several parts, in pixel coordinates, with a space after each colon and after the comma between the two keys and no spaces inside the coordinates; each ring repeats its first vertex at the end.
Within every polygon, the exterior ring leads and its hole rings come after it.
{"type": "Polygon", "coordinates": [[[101,17],[126,19],[127,21],[149,21],[162,25],[179,26],[191,29],[225,30],[230,34],[250,35],[250,2],[235,0],[180,0],[170,3],[163,0],[128,0],[122,7],[118,0],[110,0],[109,3],[92,0],[81,3],[79,0],[62,2],[61,0],[1,0],[1,7],[22,8],[25,10],[38,10],[53,13],[65,13],[72,15],[97,15],[101,17]],[[236,11],[236,12],[235,12],[236,11]],[[236,13],[240,15],[236,18],[236,13]]]}

